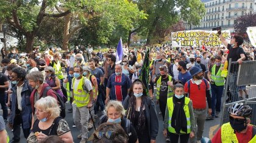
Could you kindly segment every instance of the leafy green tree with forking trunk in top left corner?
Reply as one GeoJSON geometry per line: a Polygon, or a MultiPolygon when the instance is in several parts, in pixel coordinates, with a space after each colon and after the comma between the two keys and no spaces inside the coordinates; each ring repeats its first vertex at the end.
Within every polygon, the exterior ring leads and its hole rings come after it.
{"type": "MultiPolygon", "coordinates": [[[[26,36],[26,52],[31,52],[34,46],[34,38],[41,27],[41,22],[45,16],[60,18],[70,13],[69,9],[63,13],[54,13],[51,8],[60,1],[57,0],[34,0],[34,1],[0,1],[1,19],[18,29],[26,36]],[[48,9],[49,8],[49,9],[48,9]],[[48,13],[50,12],[50,13],[48,13]]],[[[63,5],[68,5],[70,1],[61,1],[63,5]]]]}

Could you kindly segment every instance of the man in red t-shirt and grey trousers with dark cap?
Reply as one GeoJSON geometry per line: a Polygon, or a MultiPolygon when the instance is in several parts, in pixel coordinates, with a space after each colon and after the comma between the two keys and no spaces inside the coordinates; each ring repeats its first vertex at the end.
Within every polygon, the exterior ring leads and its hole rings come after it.
{"type": "Polygon", "coordinates": [[[197,142],[202,139],[202,133],[204,132],[204,122],[206,119],[206,99],[208,102],[208,114],[212,113],[210,85],[206,79],[204,79],[202,69],[194,66],[190,69],[190,74],[193,77],[186,82],[184,92],[188,93],[188,97],[193,102],[194,120],[197,124],[197,132],[194,138],[191,138],[190,142],[197,142]],[[206,98],[205,98],[206,97],[206,98]]]}

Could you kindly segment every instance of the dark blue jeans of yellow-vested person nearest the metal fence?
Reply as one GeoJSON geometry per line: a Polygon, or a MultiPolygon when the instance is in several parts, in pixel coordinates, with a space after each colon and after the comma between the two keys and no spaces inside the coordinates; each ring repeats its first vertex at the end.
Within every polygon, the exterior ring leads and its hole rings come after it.
{"type": "Polygon", "coordinates": [[[224,85],[217,86],[211,84],[212,91],[212,116],[215,116],[215,110],[221,111],[221,96],[224,90],[224,85]]]}

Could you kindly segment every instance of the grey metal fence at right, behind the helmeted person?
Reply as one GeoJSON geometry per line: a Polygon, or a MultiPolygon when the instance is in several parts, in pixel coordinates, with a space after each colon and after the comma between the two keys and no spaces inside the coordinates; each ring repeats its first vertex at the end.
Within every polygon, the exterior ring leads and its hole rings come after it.
{"type": "MultiPolygon", "coordinates": [[[[237,62],[231,62],[230,59],[229,63],[231,64],[228,67],[229,74],[224,90],[221,125],[229,122],[227,109],[236,102],[243,102],[250,105],[253,113],[256,113],[256,61],[244,61],[240,65],[237,62]]],[[[256,125],[254,114],[251,120],[251,123],[256,125]]]]}

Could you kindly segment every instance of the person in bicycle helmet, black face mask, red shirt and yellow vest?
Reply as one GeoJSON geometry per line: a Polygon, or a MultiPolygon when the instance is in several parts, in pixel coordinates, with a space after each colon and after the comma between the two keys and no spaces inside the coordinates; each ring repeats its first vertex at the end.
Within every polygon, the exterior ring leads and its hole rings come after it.
{"type": "Polygon", "coordinates": [[[230,105],[229,122],[223,124],[212,138],[218,143],[256,142],[256,127],[251,125],[252,108],[243,103],[230,105]]]}

